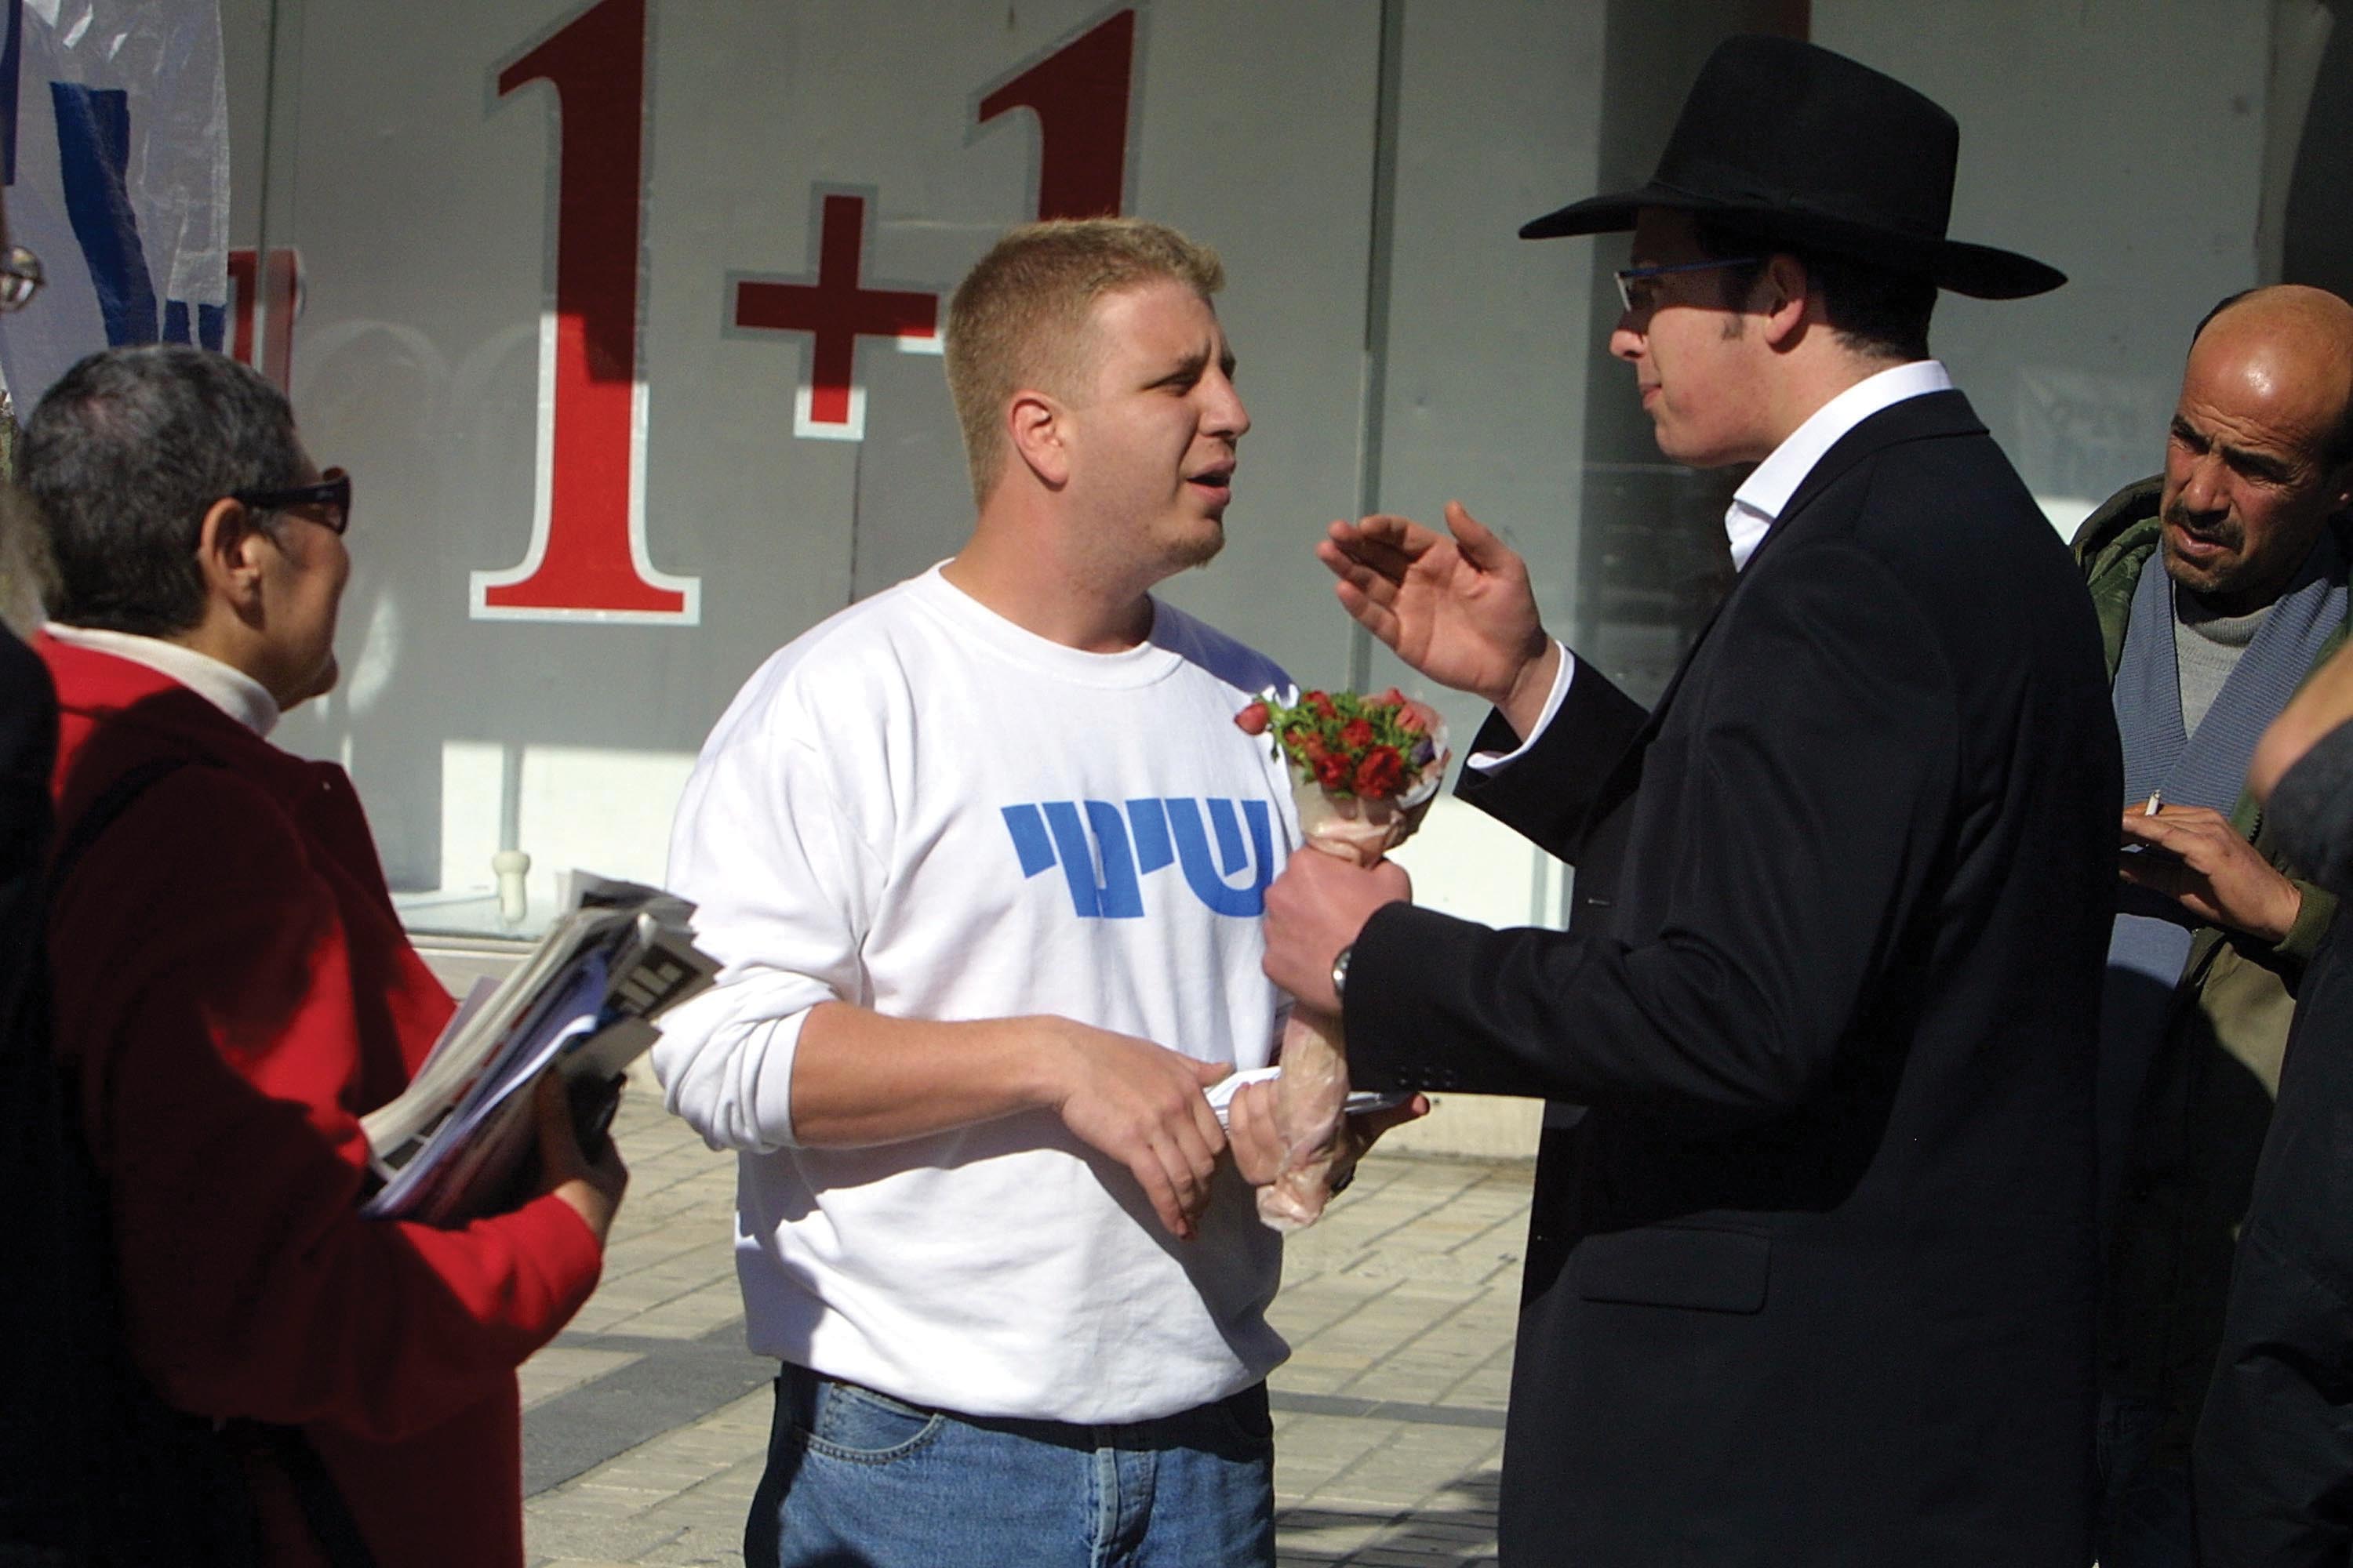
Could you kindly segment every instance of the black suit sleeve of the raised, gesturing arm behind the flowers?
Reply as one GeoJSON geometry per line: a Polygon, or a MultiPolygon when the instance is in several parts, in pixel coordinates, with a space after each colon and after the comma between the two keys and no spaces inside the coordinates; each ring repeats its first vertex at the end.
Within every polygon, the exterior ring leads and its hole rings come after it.
{"type": "MultiPolygon", "coordinates": [[[[1586,816],[1647,719],[1649,712],[1640,703],[1579,658],[1577,675],[1560,698],[1560,712],[1537,733],[1527,752],[1492,771],[1464,769],[1454,792],[1539,849],[1577,865],[1586,816]]],[[[1520,741],[1504,715],[1494,712],[1487,715],[1471,750],[1513,752],[1520,741]]]]}

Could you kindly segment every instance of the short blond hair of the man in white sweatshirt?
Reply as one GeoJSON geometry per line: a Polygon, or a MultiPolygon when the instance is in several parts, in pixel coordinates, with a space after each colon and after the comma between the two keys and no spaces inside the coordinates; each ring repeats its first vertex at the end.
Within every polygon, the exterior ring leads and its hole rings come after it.
{"type": "Polygon", "coordinates": [[[1005,400],[1021,388],[1071,395],[1085,374],[1094,301],[1174,280],[1209,299],[1226,268],[1207,244],[1148,219],[1024,223],[965,273],[948,301],[948,393],[965,430],[972,496],[1005,470],[1005,400]]]}

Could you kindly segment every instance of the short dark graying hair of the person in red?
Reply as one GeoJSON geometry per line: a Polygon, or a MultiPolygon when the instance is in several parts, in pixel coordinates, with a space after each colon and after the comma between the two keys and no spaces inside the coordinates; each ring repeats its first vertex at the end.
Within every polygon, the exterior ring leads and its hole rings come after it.
{"type": "Polygon", "coordinates": [[[49,616],[141,637],[205,618],[198,534],[238,489],[301,482],[285,393],[186,343],[94,353],[33,409],[16,477],[49,531],[49,616]]]}

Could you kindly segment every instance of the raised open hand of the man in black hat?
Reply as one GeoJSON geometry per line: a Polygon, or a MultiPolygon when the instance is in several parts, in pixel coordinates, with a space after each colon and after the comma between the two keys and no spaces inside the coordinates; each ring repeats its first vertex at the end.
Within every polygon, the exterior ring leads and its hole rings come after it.
{"type": "Polygon", "coordinates": [[[1421,675],[1508,712],[1541,665],[1541,701],[1553,642],[1537,616],[1527,562],[1459,501],[1447,501],[1447,531],[1377,512],[1334,522],[1315,559],[1339,578],[1341,609],[1421,675]]]}

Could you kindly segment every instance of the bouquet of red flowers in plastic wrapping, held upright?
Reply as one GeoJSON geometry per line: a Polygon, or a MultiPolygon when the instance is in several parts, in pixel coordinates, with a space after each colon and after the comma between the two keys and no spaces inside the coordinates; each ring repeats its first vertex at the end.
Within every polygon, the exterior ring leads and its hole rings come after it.
{"type": "MultiPolygon", "coordinates": [[[[1268,736],[1292,776],[1299,832],[1313,849],[1372,865],[1412,837],[1447,773],[1447,724],[1395,686],[1381,696],[1273,691],[1233,715],[1268,736]]],[[[1292,1006],[1275,1079],[1282,1168],[1259,1187],[1259,1220],[1299,1229],[1322,1218],[1332,1185],[1355,1164],[1348,1147],[1348,1053],[1337,1016],[1292,1006]]]]}

